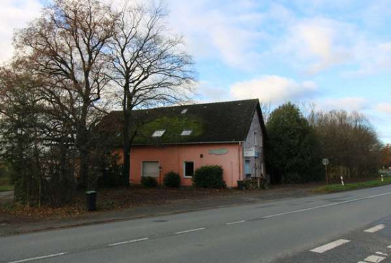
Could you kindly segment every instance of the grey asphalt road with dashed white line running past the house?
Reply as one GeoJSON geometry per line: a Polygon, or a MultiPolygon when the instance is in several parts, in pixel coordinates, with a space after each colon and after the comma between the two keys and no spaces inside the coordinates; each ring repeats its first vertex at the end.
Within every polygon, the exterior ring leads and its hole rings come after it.
{"type": "Polygon", "coordinates": [[[382,186],[2,237],[0,262],[321,262],[337,250],[311,249],[390,215],[391,186],[382,186]]]}

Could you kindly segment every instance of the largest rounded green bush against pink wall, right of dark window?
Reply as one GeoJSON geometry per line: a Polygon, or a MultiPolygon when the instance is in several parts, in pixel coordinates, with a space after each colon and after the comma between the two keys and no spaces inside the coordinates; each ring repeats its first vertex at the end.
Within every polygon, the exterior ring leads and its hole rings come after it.
{"type": "Polygon", "coordinates": [[[221,166],[202,166],[195,170],[193,186],[198,188],[225,188],[221,166]]]}

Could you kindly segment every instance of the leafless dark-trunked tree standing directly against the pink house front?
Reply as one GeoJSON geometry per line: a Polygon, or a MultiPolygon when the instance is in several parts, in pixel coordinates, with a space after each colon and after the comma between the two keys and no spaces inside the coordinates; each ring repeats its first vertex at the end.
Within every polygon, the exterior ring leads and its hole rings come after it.
{"type": "Polygon", "coordinates": [[[129,178],[132,110],[188,100],[194,80],[193,61],[183,50],[183,39],[166,28],[163,6],[126,1],[116,16],[109,76],[120,88],[123,173],[129,178]]]}

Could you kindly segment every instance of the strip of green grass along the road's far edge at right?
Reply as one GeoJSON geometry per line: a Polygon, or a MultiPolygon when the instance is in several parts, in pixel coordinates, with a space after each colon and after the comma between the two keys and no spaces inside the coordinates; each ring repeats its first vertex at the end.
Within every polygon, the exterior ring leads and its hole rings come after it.
{"type": "Polygon", "coordinates": [[[361,188],[370,188],[370,187],[376,187],[376,186],[385,186],[387,184],[391,184],[391,177],[385,177],[384,182],[381,181],[381,179],[366,181],[366,182],[358,182],[358,183],[345,183],[345,186],[342,186],[341,183],[338,184],[332,184],[328,186],[321,186],[318,188],[315,188],[313,190],[314,193],[335,193],[335,192],[341,192],[345,190],[355,190],[355,189],[361,189],[361,188]]]}

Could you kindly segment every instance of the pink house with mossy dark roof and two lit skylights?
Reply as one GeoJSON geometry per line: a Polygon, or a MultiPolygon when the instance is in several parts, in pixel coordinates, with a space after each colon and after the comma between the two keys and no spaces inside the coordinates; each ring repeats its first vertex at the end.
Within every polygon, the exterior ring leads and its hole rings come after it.
{"type": "MultiPolygon", "coordinates": [[[[181,185],[191,186],[195,169],[206,165],[223,167],[228,187],[237,181],[266,175],[264,164],[265,127],[258,100],[141,109],[133,119],[144,120],[135,132],[130,152],[130,181],[141,176],[162,181],[174,171],[181,185]]],[[[106,119],[120,127],[122,112],[106,119]]],[[[121,129],[113,134],[120,136],[121,129]]],[[[121,149],[118,150],[119,154],[121,149]]]]}

